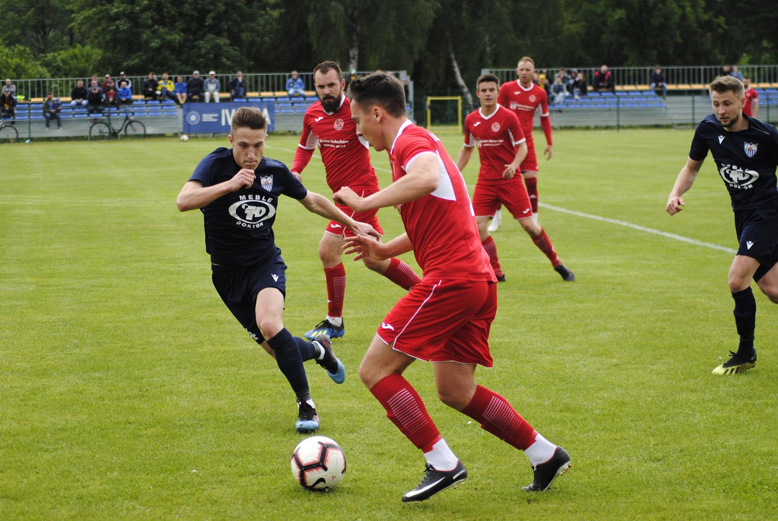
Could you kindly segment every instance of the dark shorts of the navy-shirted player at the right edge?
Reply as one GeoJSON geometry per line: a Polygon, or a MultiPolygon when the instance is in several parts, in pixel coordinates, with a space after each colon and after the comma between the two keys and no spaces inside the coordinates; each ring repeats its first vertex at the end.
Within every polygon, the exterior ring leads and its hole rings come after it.
{"type": "Polygon", "coordinates": [[[738,255],[759,261],[754,280],[767,273],[778,262],[778,209],[745,209],[734,213],[738,233],[738,255]]]}

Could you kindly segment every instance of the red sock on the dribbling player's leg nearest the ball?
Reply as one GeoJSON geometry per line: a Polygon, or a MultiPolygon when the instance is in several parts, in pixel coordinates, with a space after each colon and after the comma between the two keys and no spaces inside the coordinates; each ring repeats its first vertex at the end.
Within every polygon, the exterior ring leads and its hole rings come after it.
{"type": "Polygon", "coordinates": [[[387,410],[387,418],[397,425],[413,445],[429,452],[440,440],[440,432],[429,417],[421,396],[402,375],[394,373],[381,378],[370,388],[370,393],[387,410]]]}

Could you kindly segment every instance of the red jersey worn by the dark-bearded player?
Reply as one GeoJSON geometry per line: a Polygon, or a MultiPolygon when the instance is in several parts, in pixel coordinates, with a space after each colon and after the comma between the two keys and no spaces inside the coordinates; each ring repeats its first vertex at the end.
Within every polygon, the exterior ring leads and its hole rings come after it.
{"type": "Polygon", "coordinates": [[[303,135],[298,146],[314,150],[317,145],[332,192],[338,192],[343,186],[349,186],[355,192],[379,189],[376,171],[370,164],[368,143],[356,135],[349,98],[344,96],[333,114],[324,111],[321,100],[305,111],[303,135]]]}

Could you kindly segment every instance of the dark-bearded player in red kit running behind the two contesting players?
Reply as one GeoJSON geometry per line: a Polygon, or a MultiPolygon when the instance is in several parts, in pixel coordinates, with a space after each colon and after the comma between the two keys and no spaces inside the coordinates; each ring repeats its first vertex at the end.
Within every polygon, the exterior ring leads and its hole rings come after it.
{"type": "MultiPolygon", "coordinates": [[[[297,147],[292,173],[301,179],[303,168],[319,146],[327,184],[333,193],[342,186],[350,186],[360,195],[378,192],[378,178],[370,165],[370,151],[363,139],[356,135],[356,124],[351,121],[350,102],[345,97],[345,81],[340,66],[335,62],[322,62],[314,69],[314,84],[319,100],[308,107],[303,117],[303,135],[297,147]]],[[[379,233],[381,231],[377,210],[353,213],[341,208],[355,220],[370,223],[379,233]]],[[[324,229],[319,242],[319,259],[324,266],[327,280],[327,317],[314,329],[305,333],[305,337],[314,340],[326,334],[338,338],[345,334],[343,325],[343,298],[345,297],[345,268],[341,261],[343,239],[349,238],[352,231],[335,220],[331,220],[324,229]]],[[[387,277],[395,284],[410,290],[419,280],[410,266],[400,259],[363,259],[365,266],[387,277]]]]}

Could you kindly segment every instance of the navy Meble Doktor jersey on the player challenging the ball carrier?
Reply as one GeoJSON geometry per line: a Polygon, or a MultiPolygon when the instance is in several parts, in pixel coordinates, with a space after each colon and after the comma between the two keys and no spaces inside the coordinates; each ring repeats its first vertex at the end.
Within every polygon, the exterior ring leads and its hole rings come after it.
{"type": "MultiPolygon", "coordinates": [[[[238,171],[233,150],[220,147],[200,161],[189,181],[218,185],[238,171]]],[[[254,174],[257,178],[251,188],[230,192],[200,209],[205,251],[216,264],[251,266],[278,257],[281,250],[275,245],[272,226],[279,195],[304,199],[308,193],[281,161],[263,157],[254,174]]]]}

